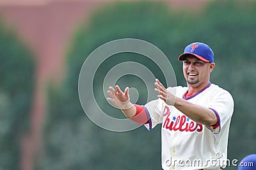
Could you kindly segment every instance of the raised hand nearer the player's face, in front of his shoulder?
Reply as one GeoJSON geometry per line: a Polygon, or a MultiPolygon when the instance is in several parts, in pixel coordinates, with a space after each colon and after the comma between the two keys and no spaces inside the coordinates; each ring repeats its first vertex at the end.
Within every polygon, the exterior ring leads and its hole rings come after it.
{"type": "Polygon", "coordinates": [[[164,88],[163,84],[158,79],[156,79],[155,86],[155,91],[159,93],[157,97],[164,100],[164,102],[166,102],[168,105],[174,105],[175,95],[168,91],[168,89],[164,88]]]}

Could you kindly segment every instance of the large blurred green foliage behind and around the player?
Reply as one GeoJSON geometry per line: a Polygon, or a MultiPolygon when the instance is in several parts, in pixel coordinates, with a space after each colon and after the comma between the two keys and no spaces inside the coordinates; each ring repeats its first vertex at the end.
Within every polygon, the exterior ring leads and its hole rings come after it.
{"type": "MultiPolygon", "coordinates": [[[[82,24],[74,36],[67,54],[65,83],[49,93],[45,152],[38,168],[161,169],[161,126],[152,132],[143,127],[126,133],[109,132],[94,125],[79,104],[77,80],[86,56],[100,45],[119,38],[146,40],[163,50],[175,70],[177,84],[182,86],[186,86],[186,82],[177,57],[191,42],[209,44],[215,52],[216,63],[211,82],[230,91],[235,101],[228,158],[241,160],[254,153],[255,8],[254,1],[212,1],[197,13],[189,10],[172,12],[163,2],[132,2],[108,4],[95,11],[90,22],[82,24]]],[[[124,116],[106,102],[102,82],[110,68],[124,61],[147,65],[156,77],[164,81],[159,68],[144,56],[116,54],[104,61],[95,74],[93,89],[97,92],[95,97],[99,99],[100,107],[107,108],[106,112],[116,118],[124,116]]],[[[118,82],[122,89],[133,86],[140,96],[147,95],[143,91],[145,84],[139,79],[122,78],[118,82]]],[[[138,104],[145,104],[145,100],[139,98],[138,104]]]]}

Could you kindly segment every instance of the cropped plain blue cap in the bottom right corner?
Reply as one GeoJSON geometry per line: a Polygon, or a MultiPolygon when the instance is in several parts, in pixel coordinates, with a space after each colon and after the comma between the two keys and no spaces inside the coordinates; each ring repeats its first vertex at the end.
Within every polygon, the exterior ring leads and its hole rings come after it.
{"type": "Polygon", "coordinates": [[[256,154],[251,154],[246,157],[244,157],[241,162],[239,163],[239,166],[237,168],[238,170],[255,170],[256,169],[256,154]]]}

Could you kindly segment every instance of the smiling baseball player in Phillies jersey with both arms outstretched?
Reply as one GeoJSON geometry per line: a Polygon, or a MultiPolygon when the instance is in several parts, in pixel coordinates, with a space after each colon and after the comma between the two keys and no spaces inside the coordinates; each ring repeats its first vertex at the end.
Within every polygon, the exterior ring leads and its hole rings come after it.
{"type": "Polygon", "coordinates": [[[125,116],[148,130],[161,124],[162,168],[222,169],[227,166],[232,96],[212,84],[214,54],[205,43],[189,44],[179,56],[187,87],[164,88],[156,79],[157,100],[145,105],[132,104],[129,88],[109,87],[109,102],[125,116]]]}

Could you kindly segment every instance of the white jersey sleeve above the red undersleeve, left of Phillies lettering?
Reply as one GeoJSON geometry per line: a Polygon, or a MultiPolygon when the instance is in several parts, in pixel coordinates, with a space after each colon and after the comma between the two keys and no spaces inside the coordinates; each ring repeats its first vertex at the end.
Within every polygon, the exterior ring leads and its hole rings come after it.
{"type": "Polygon", "coordinates": [[[165,107],[165,102],[162,99],[152,100],[145,104],[145,111],[148,114],[149,120],[148,123],[144,126],[151,130],[156,127],[157,124],[163,122],[163,112],[165,107]]]}

